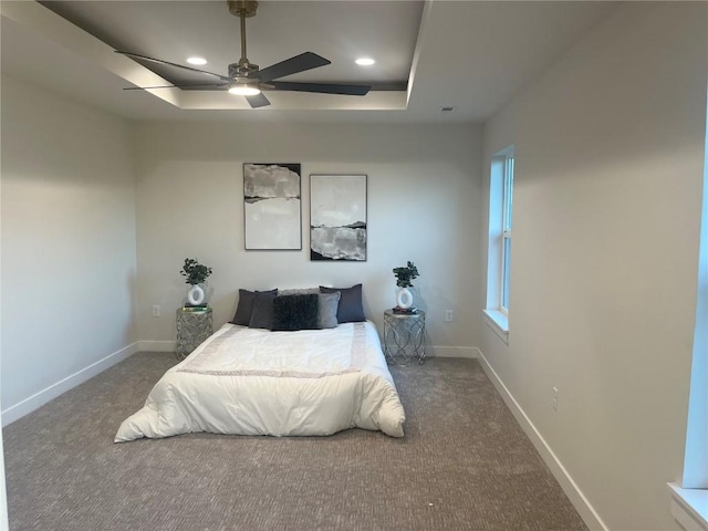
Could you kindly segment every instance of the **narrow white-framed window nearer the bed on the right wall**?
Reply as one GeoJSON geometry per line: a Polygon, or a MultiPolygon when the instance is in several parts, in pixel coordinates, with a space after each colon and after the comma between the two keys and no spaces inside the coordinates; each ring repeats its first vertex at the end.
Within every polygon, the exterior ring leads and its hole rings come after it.
{"type": "Polygon", "coordinates": [[[485,314],[502,340],[509,332],[513,147],[497,153],[489,175],[489,252],[485,314]]]}

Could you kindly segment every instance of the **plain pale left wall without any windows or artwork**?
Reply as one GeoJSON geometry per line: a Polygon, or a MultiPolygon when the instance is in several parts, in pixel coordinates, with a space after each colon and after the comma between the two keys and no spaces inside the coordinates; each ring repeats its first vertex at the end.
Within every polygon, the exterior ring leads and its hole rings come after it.
{"type": "Polygon", "coordinates": [[[6,410],[135,342],[135,278],[128,124],[3,77],[6,410]]]}

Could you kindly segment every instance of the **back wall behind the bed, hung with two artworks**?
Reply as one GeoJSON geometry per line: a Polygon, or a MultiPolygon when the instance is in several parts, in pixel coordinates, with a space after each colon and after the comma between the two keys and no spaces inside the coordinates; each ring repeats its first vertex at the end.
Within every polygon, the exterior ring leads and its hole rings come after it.
{"type": "Polygon", "coordinates": [[[392,269],[415,261],[415,304],[437,353],[473,355],[481,308],[481,131],[476,126],[147,123],[137,127],[138,323],[169,348],[187,287],[187,257],[214,268],[217,326],[239,288],[364,284],[379,329],[395,305],[392,269]],[[302,251],[243,250],[243,163],[302,164],[302,251]],[[366,262],[311,262],[310,174],[368,176],[366,262]],[[162,317],[152,317],[159,304],[162,317]],[[455,311],[452,323],[445,310],[455,311]]]}

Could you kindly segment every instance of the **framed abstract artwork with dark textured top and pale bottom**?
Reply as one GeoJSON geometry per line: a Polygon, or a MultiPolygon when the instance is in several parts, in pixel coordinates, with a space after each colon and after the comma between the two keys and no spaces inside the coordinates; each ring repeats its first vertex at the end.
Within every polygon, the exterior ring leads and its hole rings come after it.
{"type": "Polygon", "coordinates": [[[299,164],[243,164],[246,250],[301,250],[299,164]]]}

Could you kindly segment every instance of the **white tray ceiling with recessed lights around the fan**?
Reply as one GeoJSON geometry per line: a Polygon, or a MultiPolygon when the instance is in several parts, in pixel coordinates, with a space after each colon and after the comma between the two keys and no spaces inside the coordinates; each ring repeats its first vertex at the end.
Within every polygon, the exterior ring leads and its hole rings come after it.
{"type": "Polygon", "coordinates": [[[487,119],[616,6],[261,1],[257,15],[247,19],[250,61],[263,69],[311,51],[332,64],[283,81],[372,84],[374,90],[363,97],[268,92],[272,105],[251,110],[242,97],[225,92],[123,91],[168,83],[114,53],[123,49],[179,64],[198,54],[209,61],[204,70],[226,75],[228,64],[240,56],[240,22],[228,12],[226,0],[48,3],[52,10],[34,1],[0,2],[3,75],[134,119],[377,123],[487,119]],[[356,66],[353,61],[360,55],[377,63],[356,66]],[[398,90],[378,90],[384,84],[398,90]],[[455,110],[442,113],[444,106],[455,110]]]}

